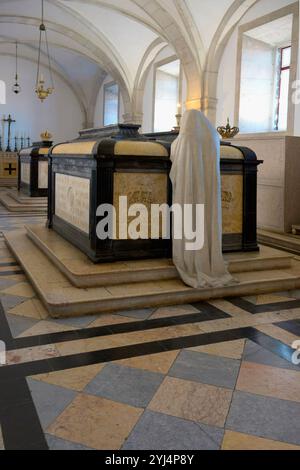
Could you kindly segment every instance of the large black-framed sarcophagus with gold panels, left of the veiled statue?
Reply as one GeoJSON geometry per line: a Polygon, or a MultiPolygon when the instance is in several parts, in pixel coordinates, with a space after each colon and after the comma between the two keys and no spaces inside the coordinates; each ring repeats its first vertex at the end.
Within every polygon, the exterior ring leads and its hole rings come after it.
{"type": "Polygon", "coordinates": [[[84,251],[94,262],[160,258],[171,255],[169,240],[120,236],[120,197],[128,206],[171,204],[170,145],[149,142],[139,126],[118,125],[80,133],[50,152],[49,227],[84,251]],[[115,234],[99,239],[97,209],[116,210],[115,234]]]}

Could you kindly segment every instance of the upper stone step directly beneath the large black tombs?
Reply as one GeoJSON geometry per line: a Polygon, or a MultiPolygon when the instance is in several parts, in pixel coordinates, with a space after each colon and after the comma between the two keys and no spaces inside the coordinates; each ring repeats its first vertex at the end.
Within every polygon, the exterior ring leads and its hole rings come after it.
{"type": "MultiPolygon", "coordinates": [[[[26,226],[36,246],[77,287],[102,287],[124,283],[178,279],[172,260],[144,260],[94,264],[85,254],[43,225],[26,226]]],[[[292,255],[269,248],[260,253],[227,254],[229,271],[241,273],[291,267],[292,255]]]]}

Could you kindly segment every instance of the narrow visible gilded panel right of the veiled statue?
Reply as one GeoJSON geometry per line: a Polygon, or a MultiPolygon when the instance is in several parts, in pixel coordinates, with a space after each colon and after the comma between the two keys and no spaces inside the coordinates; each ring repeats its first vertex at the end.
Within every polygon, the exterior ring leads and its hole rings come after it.
{"type": "Polygon", "coordinates": [[[223,234],[243,233],[243,176],[222,175],[223,234]]]}

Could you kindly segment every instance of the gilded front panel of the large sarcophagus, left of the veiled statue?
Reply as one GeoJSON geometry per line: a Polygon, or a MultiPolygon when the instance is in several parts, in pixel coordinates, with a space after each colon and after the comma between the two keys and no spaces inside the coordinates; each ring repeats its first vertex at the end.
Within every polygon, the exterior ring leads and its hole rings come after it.
{"type": "MultiPolygon", "coordinates": [[[[115,173],[114,207],[116,209],[116,238],[119,238],[119,197],[127,196],[128,208],[133,204],[143,204],[148,210],[148,233],[151,238],[151,204],[168,203],[168,176],[161,173],[115,173]]],[[[128,217],[128,225],[134,217],[128,217]]],[[[158,233],[162,233],[161,223],[157,223],[158,233]]],[[[124,227],[123,227],[124,229],[124,227]]],[[[126,233],[126,228],[124,229],[126,233]]],[[[122,230],[123,231],[123,230],[122,230]]],[[[129,238],[129,237],[128,237],[129,238]]]]}

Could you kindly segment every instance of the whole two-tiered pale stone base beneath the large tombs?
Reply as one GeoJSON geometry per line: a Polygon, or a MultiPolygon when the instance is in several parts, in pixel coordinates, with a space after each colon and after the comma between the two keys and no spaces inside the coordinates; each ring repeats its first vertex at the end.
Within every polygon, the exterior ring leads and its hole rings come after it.
{"type": "Polygon", "coordinates": [[[191,289],[178,278],[170,260],[94,265],[82,252],[43,226],[5,232],[4,237],[55,318],[300,288],[300,261],[266,247],[260,253],[226,256],[237,284],[191,289]]]}

